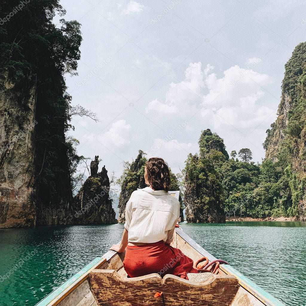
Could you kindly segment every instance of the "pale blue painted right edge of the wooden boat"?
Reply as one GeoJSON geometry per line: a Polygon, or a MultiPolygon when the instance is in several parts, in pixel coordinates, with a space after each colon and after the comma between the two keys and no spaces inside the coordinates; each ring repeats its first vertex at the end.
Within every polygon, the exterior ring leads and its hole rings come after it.
{"type": "MultiPolygon", "coordinates": [[[[177,228],[176,232],[181,238],[183,238],[188,244],[190,244],[196,251],[206,256],[210,261],[216,258],[212,256],[209,252],[203,249],[199,244],[196,243],[192,238],[190,238],[181,228],[177,228]]],[[[220,265],[220,268],[227,274],[231,274],[237,277],[239,284],[251,293],[254,297],[259,299],[266,306],[285,306],[280,300],[273,297],[270,293],[259,287],[256,283],[251,281],[249,278],[244,276],[242,273],[237,271],[230,265],[220,265]]]]}

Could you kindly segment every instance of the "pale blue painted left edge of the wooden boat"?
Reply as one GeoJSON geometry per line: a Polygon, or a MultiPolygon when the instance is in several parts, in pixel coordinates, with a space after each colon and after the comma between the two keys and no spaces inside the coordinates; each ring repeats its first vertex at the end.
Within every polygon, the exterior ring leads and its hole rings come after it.
{"type": "Polygon", "coordinates": [[[58,297],[61,293],[63,293],[70,285],[72,285],[76,280],[82,277],[86,272],[88,272],[92,267],[94,267],[103,258],[104,257],[97,257],[93,259],[84,268],[82,268],[80,271],[76,272],[76,274],[68,278],[65,282],[62,283],[62,285],[54,289],[51,293],[49,293],[45,298],[43,298],[35,306],[47,306],[50,302],[52,302],[56,297],[58,297]]]}

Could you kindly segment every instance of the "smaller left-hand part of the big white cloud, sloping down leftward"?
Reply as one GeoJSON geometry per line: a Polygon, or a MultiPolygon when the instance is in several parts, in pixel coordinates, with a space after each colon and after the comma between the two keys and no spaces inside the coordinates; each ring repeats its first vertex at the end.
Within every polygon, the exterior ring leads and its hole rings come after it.
{"type": "Polygon", "coordinates": [[[186,102],[199,98],[204,87],[202,64],[190,63],[185,70],[185,80],[169,85],[166,93],[165,103],[158,99],[151,101],[146,108],[146,112],[155,111],[160,114],[174,114],[185,111],[186,102]]]}

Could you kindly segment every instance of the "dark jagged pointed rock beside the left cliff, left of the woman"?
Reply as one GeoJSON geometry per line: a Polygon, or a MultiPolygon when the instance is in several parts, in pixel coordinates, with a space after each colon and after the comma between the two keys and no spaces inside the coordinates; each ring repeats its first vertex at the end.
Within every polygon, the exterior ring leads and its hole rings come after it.
{"type": "Polygon", "coordinates": [[[103,166],[98,172],[99,156],[90,164],[91,176],[75,196],[74,209],[77,224],[117,223],[116,213],[109,197],[110,181],[103,166]]]}

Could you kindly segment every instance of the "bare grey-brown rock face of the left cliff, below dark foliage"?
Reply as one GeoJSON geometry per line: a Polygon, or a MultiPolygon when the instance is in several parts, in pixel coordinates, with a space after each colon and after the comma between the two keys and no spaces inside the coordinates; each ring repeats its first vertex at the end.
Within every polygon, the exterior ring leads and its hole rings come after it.
{"type": "Polygon", "coordinates": [[[36,80],[29,95],[0,76],[0,227],[35,225],[36,80]]]}

